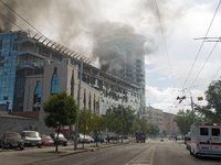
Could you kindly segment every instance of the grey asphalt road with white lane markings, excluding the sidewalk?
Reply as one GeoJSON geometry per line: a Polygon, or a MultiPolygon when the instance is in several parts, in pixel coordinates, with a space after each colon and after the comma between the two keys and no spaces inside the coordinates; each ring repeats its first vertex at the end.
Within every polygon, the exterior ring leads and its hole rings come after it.
{"type": "MultiPolygon", "coordinates": [[[[33,163],[32,163],[33,164],[33,163]]],[[[86,152],[33,165],[215,165],[221,160],[197,158],[181,142],[129,143],[97,152],[86,152]]]]}

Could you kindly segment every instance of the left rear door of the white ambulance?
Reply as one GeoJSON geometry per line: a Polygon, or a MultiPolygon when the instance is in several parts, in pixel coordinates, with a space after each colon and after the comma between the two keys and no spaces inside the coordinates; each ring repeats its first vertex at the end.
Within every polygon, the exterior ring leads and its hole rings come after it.
{"type": "Polygon", "coordinates": [[[211,131],[208,125],[199,127],[199,146],[201,151],[211,151],[211,131]]]}

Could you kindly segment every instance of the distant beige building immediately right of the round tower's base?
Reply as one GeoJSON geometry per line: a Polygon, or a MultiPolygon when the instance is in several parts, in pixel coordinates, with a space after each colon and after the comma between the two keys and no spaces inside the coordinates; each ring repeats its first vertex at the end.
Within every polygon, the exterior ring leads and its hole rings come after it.
{"type": "Polygon", "coordinates": [[[149,123],[159,128],[159,133],[162,133],[162,110],[152,107],[146,107],[146,119],[149,123]]]}

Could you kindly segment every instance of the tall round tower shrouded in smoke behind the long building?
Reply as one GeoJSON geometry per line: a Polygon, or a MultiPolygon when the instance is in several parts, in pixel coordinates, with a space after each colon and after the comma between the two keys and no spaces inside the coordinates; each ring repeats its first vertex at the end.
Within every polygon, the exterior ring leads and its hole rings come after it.
{"type": "MultiPolygon", "coordinates": [[[[146,37],[137,34],[110,35],[99,38],[96,50],[102,70],[116,75],[138,87],[137,92],[140,96],[139,117],[146,113],[145,42],[146,37]]],[[[108,89],[112,90],[112,88],[108,89]]]]}

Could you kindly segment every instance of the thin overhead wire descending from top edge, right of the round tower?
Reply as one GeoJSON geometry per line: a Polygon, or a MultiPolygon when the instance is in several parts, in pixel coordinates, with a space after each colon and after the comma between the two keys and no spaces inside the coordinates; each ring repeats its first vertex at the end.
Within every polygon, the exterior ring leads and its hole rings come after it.
{"type": "Polygon", "coordinates": [[[173,84],[173,87],[176,88],[172,68],[171,68],[171,64],[170,64],[170,59],[169,59],[169,53],[168,53],[168,48],[167,48],[167,44],[166,44],[166,40],[165,40],[165,33],[164,33],[164,29],[162,29],[162,24],[161,24],[160,13],[159,13],[159,9],[158,9],[158,4],[157,4],[157,0],[155,0],[155,3],[156,3],[156,7],[157,7],[157,14],[158,14],[159,23],[160,23],[160,30],[161,30],[161,34],[162,34],[162,40],[164,40],[164,44],[165,44],[167,59],[168,59],[168,64],[169,64],[169,68],[170,68],[171,77],[172,77],[172,84],[173,84]]]}

